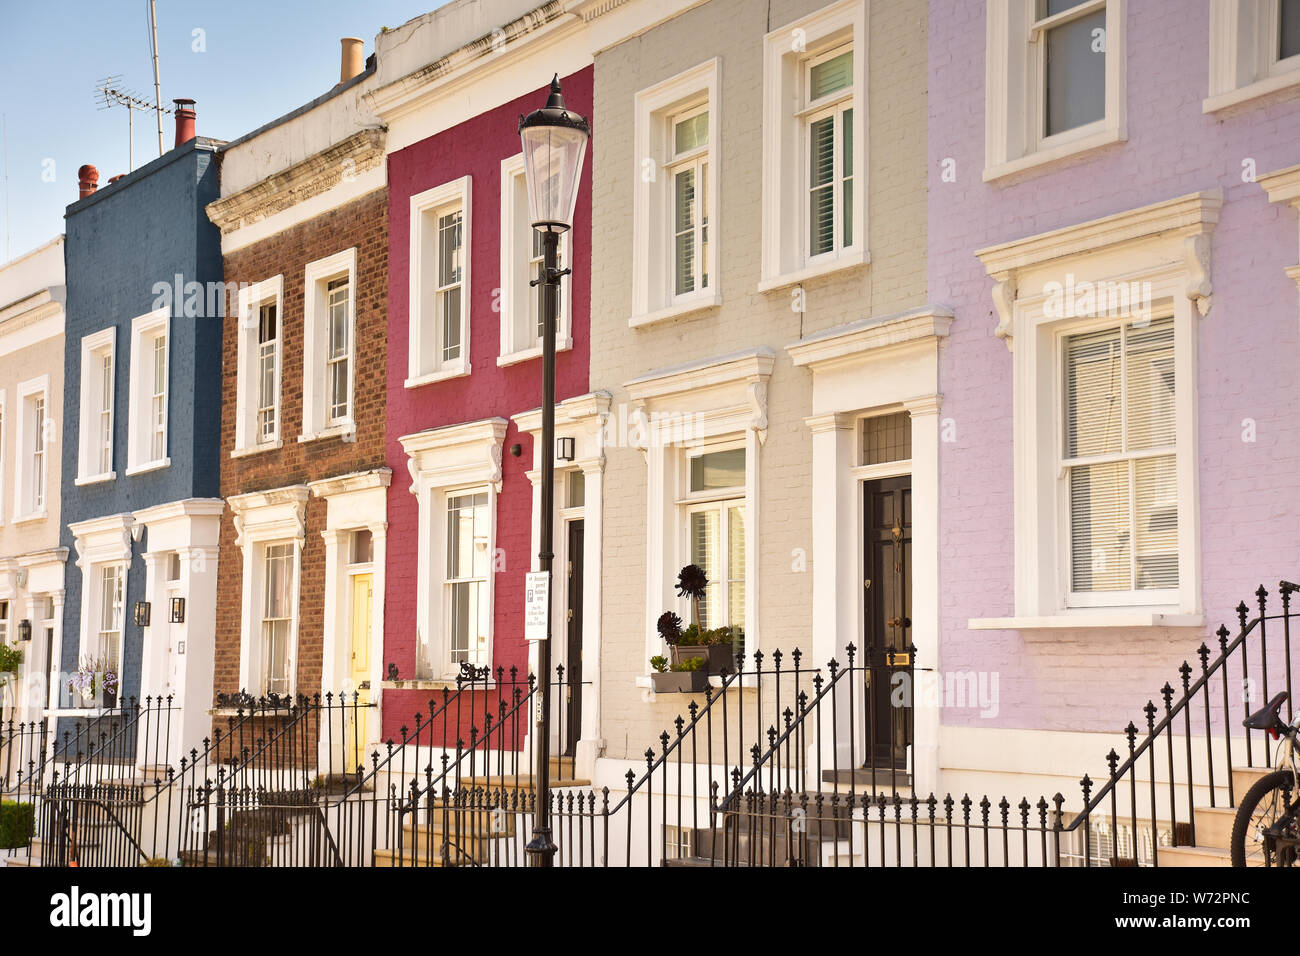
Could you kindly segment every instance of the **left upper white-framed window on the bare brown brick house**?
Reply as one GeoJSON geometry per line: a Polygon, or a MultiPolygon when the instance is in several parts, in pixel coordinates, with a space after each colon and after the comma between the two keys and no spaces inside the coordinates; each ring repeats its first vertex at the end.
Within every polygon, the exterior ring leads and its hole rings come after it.
{"type": "Polygon", "coordinates": [[[244,455],[282,445],[283,276],[239,293],[235,447],[244,455]]]}

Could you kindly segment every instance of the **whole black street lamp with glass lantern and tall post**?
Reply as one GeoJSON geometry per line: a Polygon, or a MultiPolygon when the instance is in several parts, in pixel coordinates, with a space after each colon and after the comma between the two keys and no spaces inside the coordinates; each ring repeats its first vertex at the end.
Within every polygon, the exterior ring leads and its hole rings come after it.
{"type": "MultiPolygon", "coordinates": [[[[542,234],[542,271],[533,285],[542,287],[542,533],[538,570],[551,578],[555,559],[555,313],[560,280],[571,269],[559,268],[560,234],[573,225],[577,186],[592,127],[564,108],[559,75],[551,79],[546,105],[519,120],[524,143],[524,174],[533,229],[542,234]]],[[[525,852],[532,866],[555,864],[551,840],[551,596],[546,589],[546,637],[537,644],[537,679],[541,711],[537,721],[537,808],[533,836],[525,852]]]]}

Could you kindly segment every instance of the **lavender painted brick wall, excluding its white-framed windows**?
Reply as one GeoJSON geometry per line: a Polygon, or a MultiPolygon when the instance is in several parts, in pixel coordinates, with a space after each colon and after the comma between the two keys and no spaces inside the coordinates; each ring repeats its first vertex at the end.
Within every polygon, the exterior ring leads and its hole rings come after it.
{"type": "MultiPolygon", "coordinates": [[[[1132,3],[1127,14],[1127,142],[982,181],[984,5],[931,4],[928,281],[956,312],[941,367],[956,440],[942,463],[942,666],[1000,674],[998,713],[945,724],[1117,731],[1140,722],[1158,688],[1261,583],[1295,574],[1297,429],[1294,375],[1295,213],[1243,173],[1300,160],[1295,91],[1202,112],[1208,4],[1132,3]],[[956,163],[956,181],[942,178],[956,163]],[[992,282],[974,250],[1149,203],[1221,187],[1213,233],[1214,303],[1197,320],[1201,597],[1205,626],[971,631],[1013,614],[1011,355],[993,337],[992,282]],[[1247,420],[1257,441],[1243,441],[1247,420]]],[[[1017,346],[1019,347],[1019,346],[1017,346]]],[[[1210,639],[1212,645],[1214,644],[1210,639]]],[[[1089,745],[1088,753],[1092,753],[1089,745]]],[[[1074,767],[1097,775],[1097,766],[1074,767]]]]}

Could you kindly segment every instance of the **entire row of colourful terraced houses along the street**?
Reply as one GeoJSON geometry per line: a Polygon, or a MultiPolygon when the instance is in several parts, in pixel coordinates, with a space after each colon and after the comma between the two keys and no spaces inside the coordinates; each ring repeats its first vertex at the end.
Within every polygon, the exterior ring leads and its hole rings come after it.
{"type": "Polygon", "coordinates": [[[728,697],[763,748],[833,711],[785,743],[838,792],[1078,803],[1300,574],[1296,0],[455,0],[235,139],[192,107],[0,268],[5,719],[165,700],[174,770],[329,695],[317,782],[528,753],[551,457],[562,784],[728,697]],[[545,447],[552,75],[593,135],[545,447]],[[667,692],[666,611],[738,679],[667,692]]]}

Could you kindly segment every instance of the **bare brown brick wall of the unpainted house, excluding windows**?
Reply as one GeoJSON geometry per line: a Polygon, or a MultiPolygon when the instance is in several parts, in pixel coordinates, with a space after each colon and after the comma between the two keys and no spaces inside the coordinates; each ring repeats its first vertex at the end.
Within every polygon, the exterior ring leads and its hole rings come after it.
{"type": "MultiPolygon", "coordinates": [[[[225,258],[228,284],[259,282],[283,274],[281,326],[281,432],[283,447],[231,458],[235,444],[238,317],[228,307],[222,334],[221,494],[257,492],[384,466],[385,368],[387,360],[387,191],[377,190],[286,229],[225,258]],[[303,421],[303,291],[308,263],[356,247],[356,371],[354,403],[356,441],[321,438],[299,442],[303,421]]],[[[326,503],[307,502],[307,538],[302,551],[298,691],[321,688],[322,613],[325,597],[326,503]]],[[[235,548],[230,511],[221,520],[217,572],[217,646],[214,689],[239,688],[243,554],[235,548]]],[[[377,555],[378,559],[378,555],[377,555]]],[[[254,691],[254,688],[248,688],[254,691]]]]}

